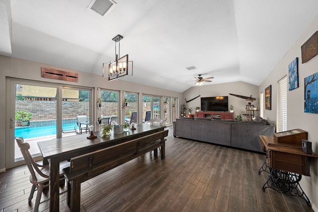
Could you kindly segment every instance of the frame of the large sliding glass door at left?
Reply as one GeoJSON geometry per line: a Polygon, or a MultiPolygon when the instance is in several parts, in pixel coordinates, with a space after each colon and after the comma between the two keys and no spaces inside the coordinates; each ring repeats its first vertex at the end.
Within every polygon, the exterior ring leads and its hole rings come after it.
{"type": "MultiPolygon", "coordinates": [[[[14,148],[15,148],[15,94],[16,94],[16,84],[20,85],[31,85],[31,86],[42,86],[42,87],[50,87],[57,88],[57,138],[62,137],[62,90],[63,88],[70,89],[83,89],[90,91],[89,97],[89,113],[91,117],[94,117],[94,107],[93,100],[95,93],[94,88],[84,87],[84,86],[74,86],[74,85],[66,85],[66,84],[58,84],[51,82],[42,82],[42,81],[33,81],[19,78],[10,78],[7,77],[5,79],[5,167],[12,168],[16,166],[20,166],[25,164],[24,160],[15,161],[14,159],[14,148]]],[[[91,124],[90,119],[90,124],[91,124]]],[[[35,160],[42,160],[42,156],[34,157],[35,160]]]]}

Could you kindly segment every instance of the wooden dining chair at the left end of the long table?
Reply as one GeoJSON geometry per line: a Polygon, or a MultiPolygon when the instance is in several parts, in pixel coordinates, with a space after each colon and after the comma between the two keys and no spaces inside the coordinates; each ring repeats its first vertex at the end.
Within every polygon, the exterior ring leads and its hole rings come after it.
{"type": "MultiPolygon", "coordinates": [[[[36,195],[35,206],[34,206],[34,212],[37,212],[39,209],[43,188],[49,186],[50,166],[40,165],[33,160],[32,155],[29,152],[30,145],[24,142],[23,137],[15,137],[15,140],[16,140],[16,143],[18,144],[18,147],[21,150],[24,161],[31,173],[30,182],[33,185],[32,185],[29,199],[28,199],[29,203],[31,203],[35,189],[37,189],[37,195],[36,195]]],[[[60,163],[60,179],[61,180],[64,178],[63,169],[69,166],[70,166],[70,163],[68,161],[63,161],[60,163]]],[[[45,201],[48,201],[48,200],[49,199],[45,201]]]]}

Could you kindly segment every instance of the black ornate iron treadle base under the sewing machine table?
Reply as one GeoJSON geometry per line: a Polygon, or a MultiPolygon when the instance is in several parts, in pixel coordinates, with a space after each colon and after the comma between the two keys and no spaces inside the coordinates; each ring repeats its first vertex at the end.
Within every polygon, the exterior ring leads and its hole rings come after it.
{"type": "Polygon", "coordinates": [[[261,172],[267,172],[269,174],[267,181],[263,185],[263,191],[265,191],[266,188],[271,188],[281,194],[286,194],[288,196],[298,196],[307,202],[307,206],[311,206],[307,195],[299,184],[302,179],[302,175],[273,169],[267,165],[266,159],[267,152],[265,161],[258,170],[258,174],[261,172]]]}

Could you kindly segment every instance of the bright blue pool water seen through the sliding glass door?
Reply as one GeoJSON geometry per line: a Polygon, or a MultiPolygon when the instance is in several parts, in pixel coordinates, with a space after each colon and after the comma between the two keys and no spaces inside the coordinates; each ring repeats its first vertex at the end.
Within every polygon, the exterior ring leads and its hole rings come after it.
{"type": "MultiPolygon", "coordinates": [[[[63,124],[63,129],[74,129],[76,123],[63,124]]],[[[78,127],[77,127],[78,128],[78,127]]],[[[39,126],[39,127],[17,127],[15,128],[15,136],[23,138],[34,138],[48,135],[56,135],[56,125],[39,126]]]]}

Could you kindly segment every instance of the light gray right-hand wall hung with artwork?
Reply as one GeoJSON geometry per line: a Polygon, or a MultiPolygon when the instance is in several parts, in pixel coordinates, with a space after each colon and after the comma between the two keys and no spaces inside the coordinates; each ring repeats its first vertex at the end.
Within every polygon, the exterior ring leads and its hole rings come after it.
{"type": "MultiPolygon", "coordinates": [[[[295,29],[297,30],[297,29],[295,29]]],[[[272,85],[272,109],[264,110],[264,118],[271,123],[277,117],[277,83],[284,76],[288,76],[288,65],[298,57],[299,62],[299,88],[287,91],[287,130],[304,129],[308,132],[308,140],[313,142],[313,152],[318,154],[318,114],[304,112],[304,78],[318,72],[318,56],[302,64],[301,46],[318,30],[318,17],[309,25],[294,46],[286,53],[266,80],[259,86],[259,93],[272,85]]],[[[286,35],[288,36],[288,35],[286,35]]],[[[273,51],[275,51],[273,49],[273,51]]],[[[265,107],[265,106],[264,106],[265,107]]],[[[311,177],[303,176],[300,184],[313,204],[313,209],[318,211],[318,160],[310,160],[311,177]]]]}

